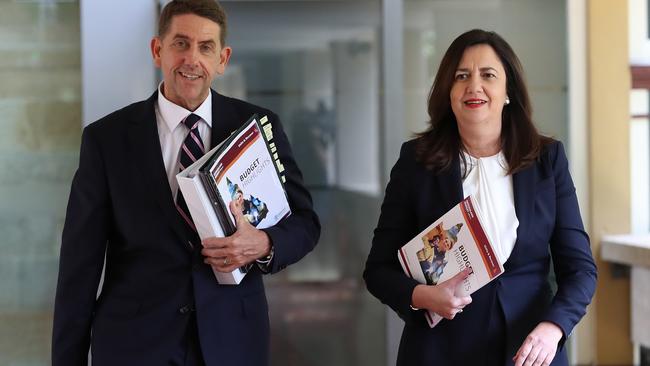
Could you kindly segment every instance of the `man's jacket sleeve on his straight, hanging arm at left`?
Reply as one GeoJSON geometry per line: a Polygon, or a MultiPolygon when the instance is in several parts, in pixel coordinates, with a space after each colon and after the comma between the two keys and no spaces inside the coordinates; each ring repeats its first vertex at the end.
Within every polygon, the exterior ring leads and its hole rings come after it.
{"type": "Polygon", "coordinates": [[[103,159],[92,131],[88,127],[82,135],[63,228],[52,335],[54,366],[88,364],[110,212],[103,159]]]}

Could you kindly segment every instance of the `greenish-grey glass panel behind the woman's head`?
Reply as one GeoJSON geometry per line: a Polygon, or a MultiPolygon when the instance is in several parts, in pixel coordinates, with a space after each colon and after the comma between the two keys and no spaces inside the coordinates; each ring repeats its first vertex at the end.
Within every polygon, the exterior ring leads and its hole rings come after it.
{"type": "Polygon", "coordinates": [[[539,129],[568,143],[566,2],[405,0],[405,120],[421,131],[426,100],[447,47],[472,28],[494,30],[523,63],[539,129]]]}

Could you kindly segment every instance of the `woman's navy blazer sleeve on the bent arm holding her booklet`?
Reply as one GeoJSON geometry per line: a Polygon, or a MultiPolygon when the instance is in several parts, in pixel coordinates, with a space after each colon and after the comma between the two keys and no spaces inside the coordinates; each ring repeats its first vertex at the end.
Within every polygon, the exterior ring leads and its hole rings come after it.
{"type": "Polygon", "coordinates": [[[397,251],[415,235],[414,169],[412,144],[407,142],[402,145],[400,157],[391,170],[363,272],[368,291],[405,321],[417,315],[410,305],[418,282],[404,274],[397,251]]]}

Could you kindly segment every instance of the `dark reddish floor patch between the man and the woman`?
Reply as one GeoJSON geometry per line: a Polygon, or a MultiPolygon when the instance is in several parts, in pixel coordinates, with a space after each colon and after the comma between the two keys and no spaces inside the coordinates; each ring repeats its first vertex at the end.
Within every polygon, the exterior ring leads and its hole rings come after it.
{"type": "Polygon", "coordinates": [[[383,308],[360,283],[269,286],[273,365],[382,365],[383,308]]]}

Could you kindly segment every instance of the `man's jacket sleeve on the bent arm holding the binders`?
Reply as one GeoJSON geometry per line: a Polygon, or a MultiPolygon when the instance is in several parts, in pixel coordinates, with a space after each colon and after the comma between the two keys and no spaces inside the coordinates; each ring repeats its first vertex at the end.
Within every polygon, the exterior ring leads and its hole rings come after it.
{"type": "Polygon", "coordinates": [[[273,244],[273,260],[269,272],[275,273],[307,255],[318,242],[320,222],[314,212],[311,195],[302,181],[302,173],[291,152],[289,139],[275,113],[268,114],[272,124],[273,142],[284,166],[285,189],[291,215],[276,225],[263,229],[273,244]]]}

